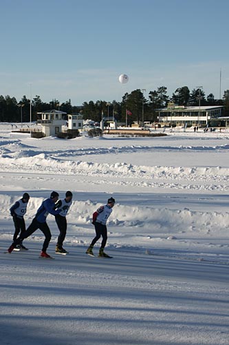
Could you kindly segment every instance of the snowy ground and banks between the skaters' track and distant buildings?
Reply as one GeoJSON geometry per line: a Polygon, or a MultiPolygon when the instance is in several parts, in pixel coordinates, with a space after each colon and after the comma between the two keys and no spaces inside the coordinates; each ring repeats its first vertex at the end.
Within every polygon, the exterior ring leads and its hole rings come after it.
{"type": "MultiPolygon", "coordinates": [[[[92,213],[108,193],[113,193],[117,204],[108,222],[109,246],[225,256],[229,242],[228,148],[228,135],[215,134],[201,137],[182,133],[176,137],[173,132],[165,139],[107,136],[66,141],[51,137],[12,139],[3,132],[3,236],[12,236],[12,225],[6,225],[11,224],[9,208],[24,190],[31,195],[28,224],[50,190],[58,190],[63,197],[69,189],[75,196],[67,216],[69,245],[89,243],[94,235],[92,213]],[[190,158],[195,165],[190,164],[190,158]]],[[[54,217],[50,215],[47,220],[55,241],[58,232],[54,217]]],[[[42,241],[42,236],[35,235],[34,239],[42,241]]]]}

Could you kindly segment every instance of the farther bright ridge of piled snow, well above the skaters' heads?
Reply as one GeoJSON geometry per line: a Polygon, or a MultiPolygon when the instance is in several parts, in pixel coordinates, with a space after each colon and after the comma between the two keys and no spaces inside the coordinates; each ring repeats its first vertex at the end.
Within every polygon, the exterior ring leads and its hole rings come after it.
{"type": "Polygon", "coordinates": [[[0,155],[1,170],[57,173],[65,175],[106,176],[135,178],[140,180],[170,179],[187,181],[228,182],[229,168],[217,167],[173,167],[173,166],[134,166],[127,163],[93,163],[89,161],[60,160],[34,150],[11,153],[5,148],[0,155]]]}

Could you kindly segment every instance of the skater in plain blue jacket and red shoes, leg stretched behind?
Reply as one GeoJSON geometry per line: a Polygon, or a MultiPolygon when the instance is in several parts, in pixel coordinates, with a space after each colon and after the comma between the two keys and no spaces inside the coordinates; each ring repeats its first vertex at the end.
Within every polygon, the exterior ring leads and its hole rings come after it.
{"type": "Polygon", "coordinates": [[[23,234],[21,234],[19,238],[16,239],[16,241],[12,243],[10,248],[8,248],[8,253],[11,253],[12,250],[23,241],[23,239],[28,238],[37,229],[40,229],[45,235],[45,241],[43,243],[40,257],[43,257],[45,259],[52,259],[52,257],[50,257],[50,255],[46,253],[47,247],[49,246],[52,237],[50,228],[46,222],[46,218],[49,213],[51,213],[51,215],[58,215],[61,212],[61,210],[54,210],[54,206],[56,201],[58,200],[58,196],[59,195],[57,192],[52,192],[50,198],[43,201],[43,203],[37,210],[34,219],[32,219],[32,223],[30,224],[28,229],[23,234]]]}

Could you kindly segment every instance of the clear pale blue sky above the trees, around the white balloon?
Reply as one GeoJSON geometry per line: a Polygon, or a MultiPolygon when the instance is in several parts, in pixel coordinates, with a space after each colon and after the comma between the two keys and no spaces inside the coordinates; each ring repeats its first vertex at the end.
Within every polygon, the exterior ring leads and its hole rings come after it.
{"type": "Polygon", "coordinates": [[[0,0],[0,95],[121,101],[229,88],[228,0],[0,0]],[[120,84],[125,73],[129,83],[120,84]]]}

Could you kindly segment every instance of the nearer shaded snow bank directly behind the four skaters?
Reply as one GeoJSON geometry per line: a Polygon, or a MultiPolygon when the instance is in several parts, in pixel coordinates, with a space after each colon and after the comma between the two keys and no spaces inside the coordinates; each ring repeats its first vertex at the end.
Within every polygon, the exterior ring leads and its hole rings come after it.
{"type": "MultiPolygon", "coordinates": [[[[0,195],[0,213],[4,219],[11,220],[9,208],[20,197],[20,195],[18,197],[0,195]]],[[[43,200],[41,197],[30,198],[28,212],[25,217],[27,222],[34,217],[43,200]]],[[[73,201],[67,215],[69,226],[72,229],[76,229],[76,226],[78,228],[83,227],[84,230],[89,229],[91,232],[91,228],[93,228],[91,226],[92,214],[100,205],[91,200],[73,201]]],[[[48,216],[49,219],[54,221],[52,215],[48,216]]],[[[142,247],[140,245],[142,235],[164,239],[168,235],[175,235],[177,239],[198,237],[206,241],[209,241],[210,237],[216,236],[219,240],[225,239],[229,242],[227,230],[229,227],[229,213],[197,212],[188,208],[171,210],[168,208],[116,204],[107,224],[113,236],[116,236],[117,233],[120,234],[121,230],[123,234],[128,232],[129,237],[135,237],[133,246],[136,248],[138,246],[142,247]],[[131,234],[130,231],[132,231],[131,234]]],[[[118,246],[126,246],[126,240],[122,242],[122,237],[123,235],[118,239],[118,246]]],[[[69,237],[68,242],[71,241],[72,237],[69,237]]],[[[85,243],[85,240],[83,240],[83,243],[85,243]]]]}

